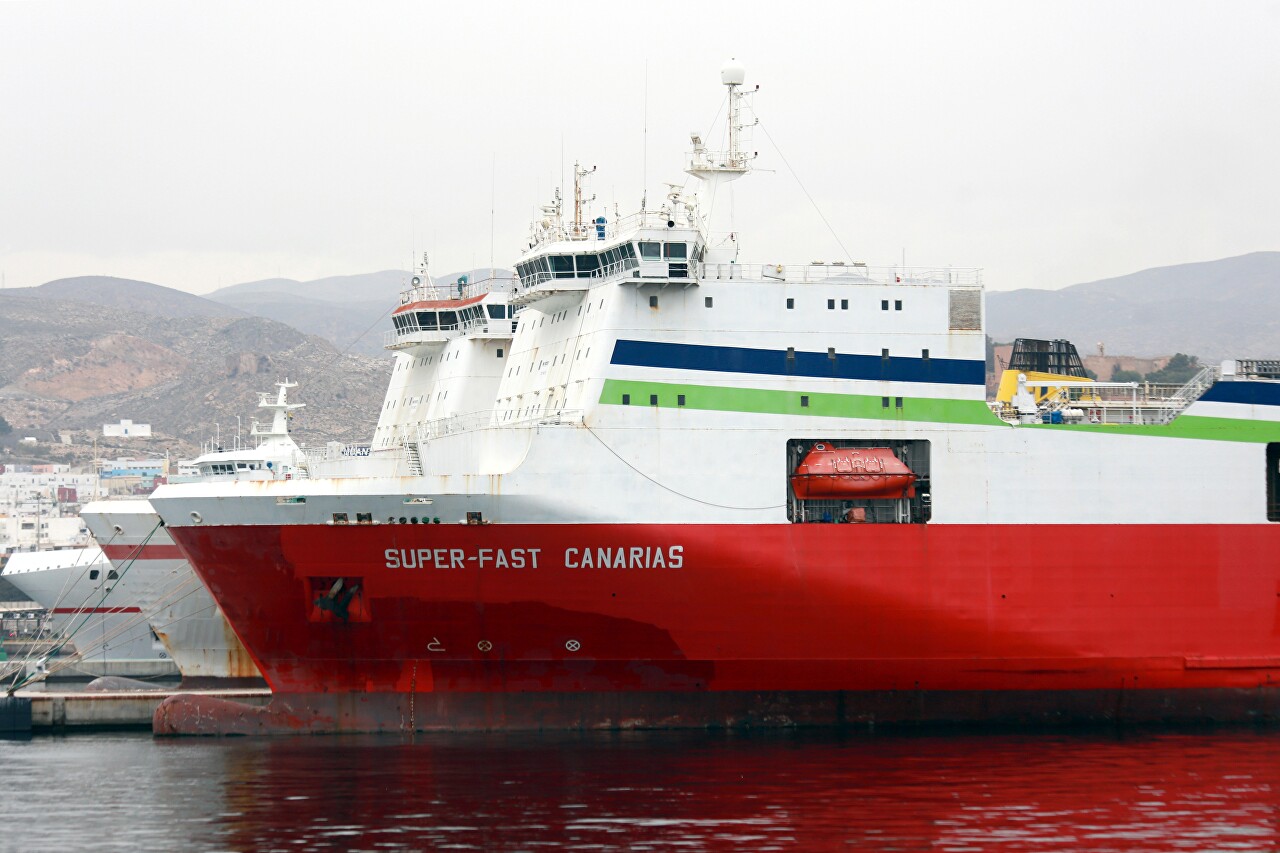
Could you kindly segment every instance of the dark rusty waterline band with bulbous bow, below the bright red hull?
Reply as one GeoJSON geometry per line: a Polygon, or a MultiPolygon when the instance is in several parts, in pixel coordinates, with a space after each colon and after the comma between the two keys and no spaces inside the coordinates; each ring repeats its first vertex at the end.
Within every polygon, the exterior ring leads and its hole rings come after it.
{"type": "Polygon", "coordinates": [[[1055,727],[1280,721],[1280,688],[1201,690],[878,690],[589,693],[300,693],[256,707],[178,694],[161,736],[627,729],[1055,727]]]}

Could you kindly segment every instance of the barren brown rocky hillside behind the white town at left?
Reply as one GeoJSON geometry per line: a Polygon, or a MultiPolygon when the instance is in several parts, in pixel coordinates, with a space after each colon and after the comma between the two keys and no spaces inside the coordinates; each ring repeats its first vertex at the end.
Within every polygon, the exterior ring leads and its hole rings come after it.
{"type": "MultiPolygon", "coordinates": [[[[151,288],[168,291],[134,284],[142,287],[133,296],[143,298],[151,288]]],[[[0,416],[14,425],[14,435],[37,435],[47,447],[59,430],[73,430],[81,451],[96,438],[105,455],[111,448],[102,424],[129,419],[151,424],[155,438],[122,442],[122,452],[189,456],[212,435],[214,424],[225,441],[238,415],[247,432],[257,392],[273,391],[285,377],[301,383],[293,397],[307,403],[294,419],[300,442],[361,441],[372,433],[385,359],[340,355],[328,341],[212,302],[204,313],[188,302],[184,315],[161,316],[92,302],[90,289],[35,295],[47,292],[0,292],[0,416]]]]}

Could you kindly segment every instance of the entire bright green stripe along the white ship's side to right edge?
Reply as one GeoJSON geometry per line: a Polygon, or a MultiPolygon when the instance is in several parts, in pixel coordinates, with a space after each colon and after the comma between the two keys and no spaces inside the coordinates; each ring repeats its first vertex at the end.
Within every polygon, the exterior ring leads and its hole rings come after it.
{"type": "MultiPolygon", "coordinates": [[[[978,426],[1007,426],[979,400],[937,400],[931,397],[904,397],[902,407],[896,397],[890,397],[884,407],[883,397],[869,394],[833,394],[799,391],[767,391],[763,388],[732,388],[723,386],[689,386],[666,382],[631,382],[605,379],[600,402],[621,406],[622,396],[630,394],[631,406],[652,406],[658,397],[659,409],[700,409],[704,411],[737,411],[755,415],[800,415],[804,418],[849,418],[860,420],[900,420],[933,424],[972,424],[978,426]],[[684,394],[685,405],[680,405],[684,394]],[[801,406],[800,398],[809,405],[801,406]]],[[[1194,438],[1215,442],[1280,442],[1280,421],[1242,420],[1234,418],[1202,418],[1181,415],[1167,425],[1146,424],[1024,424],[1023,429],[1088,430],[1102,435],[1151,435],[1156,438],[1194,438]]]]}

